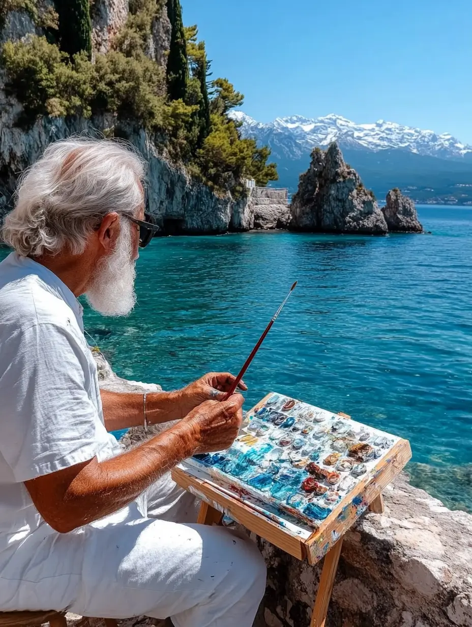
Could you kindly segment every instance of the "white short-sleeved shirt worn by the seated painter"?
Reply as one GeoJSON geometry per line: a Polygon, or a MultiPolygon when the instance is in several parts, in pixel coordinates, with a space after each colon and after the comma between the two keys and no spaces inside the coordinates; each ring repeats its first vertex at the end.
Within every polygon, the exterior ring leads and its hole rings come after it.
{"type": "Polygon", "coordinates": [[[0,263],[0,571],[28,535],[55,533],[23,482],[120,453],[108,434],[82,307],[56,275],[0,263]]]}

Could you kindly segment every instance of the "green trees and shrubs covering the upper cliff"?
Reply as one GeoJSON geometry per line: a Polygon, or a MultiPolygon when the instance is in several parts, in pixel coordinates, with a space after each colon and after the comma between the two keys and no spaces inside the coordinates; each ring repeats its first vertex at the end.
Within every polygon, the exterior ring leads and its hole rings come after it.
{"type": "MultiPolygon", "coordinates": [[[[0,3],[36,8],[34,0],[0,3]]],[[[184,29],[179,0],[130,0],[112,50],[97,53],[93,62],[88,0],[56,0],[56,6],[59,46],[32,36],[9,41],[1,50],[6,91],[23,104],[20,122],[31,124],[41,115],[114,113],[117,120],[150,130],[174,160],[218,193],[244,194],[246,178],[261,186],[277,179],[275,164],[268,163],[270,150],[242,139],[238,122],[228,117],[244,97],[227,78],[209,81],[205,43],[198,40],[196,25],[184,29]],[[153,21],[166,1],[172,25],[167,72],[147,56],[153,21]],[[67,11],[73,19],[65,26],[67,11]],[[73,23],[78,28],[68,38],[73,23]]]]}

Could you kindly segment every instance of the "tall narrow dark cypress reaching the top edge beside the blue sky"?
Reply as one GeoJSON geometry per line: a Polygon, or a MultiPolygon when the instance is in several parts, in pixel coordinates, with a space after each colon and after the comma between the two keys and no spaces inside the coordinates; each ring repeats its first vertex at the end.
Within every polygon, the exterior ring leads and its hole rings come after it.
{"type": "Polygon", "coordinates": [[[172,31],[167,58],[167,92],[170,100],[185,100],[189,68],[187,65],[187,41],[182,22],[182,7],[179,0],[167,0],[167,15],[172,31]]]}

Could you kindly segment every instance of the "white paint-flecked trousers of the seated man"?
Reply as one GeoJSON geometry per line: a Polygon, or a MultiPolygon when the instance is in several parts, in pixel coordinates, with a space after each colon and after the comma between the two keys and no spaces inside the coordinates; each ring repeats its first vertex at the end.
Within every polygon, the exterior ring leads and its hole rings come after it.
{"type": "Polygon", "coordinates": [[[165,475],[137,503],[79,533],[26,540],[15,556],[24,554],[25,568],[14,609],[251,627],[265,592],[261,554],[228,529],[194,524],[196,512],[194,497],[165,475]]]}

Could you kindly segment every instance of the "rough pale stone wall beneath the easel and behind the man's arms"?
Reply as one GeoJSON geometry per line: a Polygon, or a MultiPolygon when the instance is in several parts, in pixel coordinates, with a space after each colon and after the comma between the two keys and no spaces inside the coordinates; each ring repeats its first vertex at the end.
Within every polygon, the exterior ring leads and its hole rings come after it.
{"type": "MultiPolygon", "coordinates": [[[[142,386],[98,359],[102,386],[142,386]]],[[[125,443],[143,437],[132,429],[125,443]]],[[[384,499],[384,514],[365,515],[345,536],[325,627],[472,627],[472,515],[451,512],[405,474],[384,499]]],[[[308,627],[322,563],[308,566],[253,539],[268,566],[254,627],[308,627]]]]}

